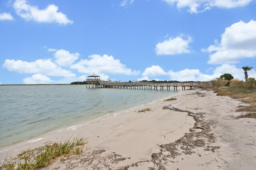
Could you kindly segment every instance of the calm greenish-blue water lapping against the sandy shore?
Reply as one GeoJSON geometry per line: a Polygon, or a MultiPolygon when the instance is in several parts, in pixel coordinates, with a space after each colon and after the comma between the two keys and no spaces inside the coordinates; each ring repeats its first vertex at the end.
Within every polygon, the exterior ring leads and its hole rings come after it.
{"type": "Polygon", "coordinates": [[[0,148],[177,93],[84,85],[0,86],[0,148]]]}

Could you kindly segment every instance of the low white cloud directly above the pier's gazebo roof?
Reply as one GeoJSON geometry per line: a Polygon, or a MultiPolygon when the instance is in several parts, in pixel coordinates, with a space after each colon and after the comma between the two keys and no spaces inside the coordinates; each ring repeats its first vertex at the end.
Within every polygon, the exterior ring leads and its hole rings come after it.
{"type": "Polygon", "coordinates": [[[126,74],[126,75],[138,75],[139,71],[132,71],[130,68],[126,68],[126,65],[120,63],[120,60],[114,59],[108,55],[90,55],[88,59],[81,59],[78,63],[72,64],[70,68],[78,70],[81,73],[92,74],[126,74]]]}

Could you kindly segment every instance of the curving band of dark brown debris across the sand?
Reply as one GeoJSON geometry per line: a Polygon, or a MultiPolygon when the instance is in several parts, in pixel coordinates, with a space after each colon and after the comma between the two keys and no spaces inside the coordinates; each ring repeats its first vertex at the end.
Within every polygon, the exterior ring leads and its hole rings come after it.
{"type": "MultiPolygon", "coordinates": [[[[210,143],[215,142],[215,137],[211,132],[211,121],[205,121],[203,112],[193,113],[192,111],[182,110],[175,107],[164,106],[163,109],[170,109],[172,111],[186,112],[192,116],[196,123],[193,128],[190,128],[190,133],[185,133],[183,137],[176,140],[174,143],[160,145],[159,153],[152,154],[152,162],[158,165],[158,170],[166,170],[165,164],[168,158],[175,159],[181,154],[193,154],[196,147],[204,147],[204,150],[215,152],[220,147],[209,146],[210,143]],[[202,131],[196,131],[201,129],[202,131]],[[206,146],[206,144],[208,146],[206,146]]],[[[200,155],[201,156],[201,155],[200,155]]],[[[210,164],[210,163],[209,163],[210,164]]]]}

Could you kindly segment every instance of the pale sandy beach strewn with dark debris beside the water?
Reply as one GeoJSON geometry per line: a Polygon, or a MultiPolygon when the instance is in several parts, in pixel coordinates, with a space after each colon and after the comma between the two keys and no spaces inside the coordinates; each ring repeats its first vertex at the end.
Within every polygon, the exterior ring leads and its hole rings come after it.
{"type": "Polygon", "coordinates": [[[4,148],[0,159],[80,136],[89,150],[44,169],[256,169],[256,120],[235,118],[240,100],[200,89],[176,98],[4,148]]]}

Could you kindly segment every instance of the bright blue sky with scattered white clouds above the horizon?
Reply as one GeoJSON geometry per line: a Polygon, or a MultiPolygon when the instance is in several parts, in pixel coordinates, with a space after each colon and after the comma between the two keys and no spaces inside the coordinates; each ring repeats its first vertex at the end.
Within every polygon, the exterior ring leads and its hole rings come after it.
{"type": "MultiPolygon", "coordinates": [[[[256,0],[1,0],[0,84],[200,80],[256,69],[256,0]]],[[[248,72],[256,78],[256,71],[248,72]]]]}

